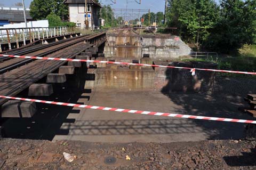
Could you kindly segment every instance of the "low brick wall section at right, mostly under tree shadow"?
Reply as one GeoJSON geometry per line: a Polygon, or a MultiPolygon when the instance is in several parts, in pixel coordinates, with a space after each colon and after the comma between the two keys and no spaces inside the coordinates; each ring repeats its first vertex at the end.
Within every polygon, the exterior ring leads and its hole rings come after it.
{"type": "MultiPolygon", "coordinates": [[[[168,63],[155,64],[167,65],[168,63]]],[[[206,62],[195,63],[171,63],[171,66],[189,68],[209,68],[216,69],[217,64],[206,62]]],[[[211,91],[214,87],[215,72],[196,70],[196,75],[192,76],[189,69],[155,68],[154,90],[162,92],[202,92],[211,91]]]]}

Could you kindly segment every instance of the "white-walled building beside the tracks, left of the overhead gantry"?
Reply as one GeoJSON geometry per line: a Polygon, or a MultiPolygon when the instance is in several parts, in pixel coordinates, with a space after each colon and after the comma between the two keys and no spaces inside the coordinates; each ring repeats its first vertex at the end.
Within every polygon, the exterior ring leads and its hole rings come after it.
{"type": "Polygon", "coordinates": [[[87,17],[89,29],[93,30],[99,28],[99,10],[101,8],[99,3],[94,0],[65,0],[63,3],[68,4],[70,22],[75,22],[78,27],[85,28],[87,17]],[[85,1],[87,1],[86,7],[85,1]]]}

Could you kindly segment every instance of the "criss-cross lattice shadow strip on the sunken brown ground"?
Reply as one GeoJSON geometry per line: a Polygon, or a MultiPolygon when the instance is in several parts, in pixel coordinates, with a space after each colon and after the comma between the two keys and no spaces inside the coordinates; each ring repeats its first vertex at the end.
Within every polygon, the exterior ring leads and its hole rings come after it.
{"type": "Polygon", "coordinates": [[[195,125],[177,119],[75,120],[63,125],[62,134],[69,135],[150,135],[199,133],[195,125]],[[75,124],[72,124],[76,122],[75,124]],[[71,123],[71,124],[70,124],[71,123]],[[66,133],[65,133],[66,132],[66,133]]]}

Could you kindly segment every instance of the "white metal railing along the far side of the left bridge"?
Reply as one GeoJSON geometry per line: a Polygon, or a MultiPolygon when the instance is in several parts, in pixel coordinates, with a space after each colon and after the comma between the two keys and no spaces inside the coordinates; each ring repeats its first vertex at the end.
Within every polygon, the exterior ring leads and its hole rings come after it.
{"type": "Polygon", "coordinates": [[[19,42],[26,41],[30,43],[41,38],[50,38],[55,36],[63,36],[77,33],[77,27],[33,27],[33,28],[1,28],[0,29],[0,52],[2,52],[1,44],[8,43],[9,50],[12,50],[11,43],[15,42],[19,48],[19,42]]]}

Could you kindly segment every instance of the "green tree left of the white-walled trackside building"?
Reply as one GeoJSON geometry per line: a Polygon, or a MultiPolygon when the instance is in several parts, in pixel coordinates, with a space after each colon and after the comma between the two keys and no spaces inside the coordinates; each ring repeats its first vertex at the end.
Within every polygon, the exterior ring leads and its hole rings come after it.
{"type": "Polygon", "coordinates": [[[62,20],[68,17],[68,6],[62,0],[33,0],[30,3],[30,15],[35,20],[45,19],[47,15],[54,13],[62,20]]]}

